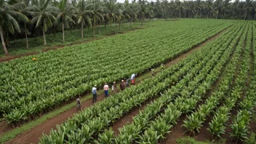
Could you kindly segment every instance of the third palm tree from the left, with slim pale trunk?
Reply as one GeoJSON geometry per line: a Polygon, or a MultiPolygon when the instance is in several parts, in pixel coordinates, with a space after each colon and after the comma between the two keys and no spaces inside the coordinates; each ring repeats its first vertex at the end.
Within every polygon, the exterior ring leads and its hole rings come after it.
{"type": "Polygon", "coordinates": [[[53,23],[56,23],[55,16],[52,15],[51,11],[47,11],[47,6],[50,0],[33,0],[32,5],[35,5],[39,12],[36,12],[36,17],[33,17],[31,20],[32,23],[36,23],[36,28],[41,28],[44,36],[44,46],[47,45],[44,33],[48,28],[52,28],[53,23]]]}

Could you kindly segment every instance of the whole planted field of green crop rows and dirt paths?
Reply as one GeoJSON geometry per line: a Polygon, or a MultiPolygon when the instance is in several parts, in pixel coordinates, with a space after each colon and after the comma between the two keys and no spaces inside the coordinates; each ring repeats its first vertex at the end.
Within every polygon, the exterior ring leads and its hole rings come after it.
{"type": "Polygon", "coordinates": [[[256,23],[153,23],[0,63],[0,142],[181,143],[189,136],[204,143],[247,143],[256,131],[256,23]],[[138,73],[135,86],[105,99],[102,94],[94,105],[85,99],[93,85],[102,89],[132,73],[138,73]],[[86,95],[80,113],[70,106],[12,134],[12,125],[55,113],[78,95],[86,95]]]}

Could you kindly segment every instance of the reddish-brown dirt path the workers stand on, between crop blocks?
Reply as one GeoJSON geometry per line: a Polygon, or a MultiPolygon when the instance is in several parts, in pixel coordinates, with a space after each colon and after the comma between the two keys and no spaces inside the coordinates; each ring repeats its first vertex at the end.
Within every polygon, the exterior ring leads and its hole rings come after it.
{"type": "MultiPolygon", "coordinates": [[[[165,65],[166,66],[175,65],[175,63],[178,63],[180,60],[183,60],[188,55],[191,55],[191,53],[196,52],[196,50],[203,47],[209,41],[216,39],[218,36],[220,36],[226,30],[227,29],[221,31],[220,33],[217,33],[217,35],[213,36],[212,38],[208,39],[207,41],[202,42],[201,44],[197,45],[196,47],[193,47],[192,49],[188,50],[188,52],[181,54],[180,56],[176,57],[175,59],[170,60],[165,65]]],[[[148,72],[148,73],[150,73],[150,72],[148,72]]],[[[145,73],[145,74],[148,74],[148,73],[145,73]]],[[[143,74],[141,76],[144,76],[145,74],[143,74]]],[[[138,77],[137,79],[140,79],[140,77],[138,77]]],[[[104,99],[104,94],[101,94],[98,96],[97,102],[99,102],[103,99],[104,99]]],[[[92,98],[90,98],[89,100],[86,100],[81,105],[82,105],[82,108],[88,108],[89,106],[93,105],[92,98]]],[[[27,132],[23,132],[22,134],[17,135],[17,137],[15,137],[12,140],[9,140],[7,143],[14,143],[14,144],[38,143],[39,138],[42,136],[42,133],[48,135],[51,129],[56,129],[56,124],[62,124],[63,121],[68,119],[68,117],[71,117],[73,115],[73,113],[76,113],[76,112],[77,112],[76,108],[71,108],[68,111],[60,113],[59,115],[48,119],[47,121],[40,124],[39,126],[33,127],[33,129],[30,129],[27,132]]],[[[132,115],[132,113],[133,113],[133,111],[130,114],[132,115]]],[[[136,113],[133,113],[133,114],[136,114],[136,113]]],[[[126,117],[131,117],[131,116],[127,115],[126,117]]],[[[121,119],[119,121],[121,121],[121,119]]],[[[119,126],[121,127],[126,123],[127,123],[127,121],[120,122],[119,126]]]]}

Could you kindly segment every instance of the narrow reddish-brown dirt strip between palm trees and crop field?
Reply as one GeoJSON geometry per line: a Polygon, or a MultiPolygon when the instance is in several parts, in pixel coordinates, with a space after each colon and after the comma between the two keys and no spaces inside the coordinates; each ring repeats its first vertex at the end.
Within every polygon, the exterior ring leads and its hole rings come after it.
{"type": "MultiPolygon", "coordinates": [[[[146,27],[146,28],[148,28],[148,27],[146,27]]],[[[143,28],[132,28],[132,30],[129,30],[129,31],[135,31],[135,30],[138,30],[138,29],[143,29],[143,28]]],[[[63,44],[63,45],[57,45],[57,46],[52,46],[52,47],[46,47],[46,48],[41,49],[41,52],[47,52],[49,50],[61,49],[61,48],[66,47],[66,46],[73,46],[73,45],[76,45],[76,44],[82,44],[82,43],[86,43],[86,42],[89,42],[89,41],[104,39],[105,37],[108,37],[108,36],[115,36],[117,34],[128,33],[129,31],[123,31],[121,33],[111,33],[111,34],[105,35],[105,36],[100,37],[100,38],[87,39],[85,41],[77,41],[77,42],[74,42],[74,43],[71,43],[71,44],[63,44]]],[[[20,57],[29,56],[29,55],[37,55],[39,53],[40,52],[29,52],[29,53],[25,53],[25,54],[22,54],[22,55],[7,55],[5,57],[0,57],[0,63],[6,62],[6,61],[9,61],[9,60],[13,60],[13,59],[16,59],[16,58],[20,58],[20,57]]]]}

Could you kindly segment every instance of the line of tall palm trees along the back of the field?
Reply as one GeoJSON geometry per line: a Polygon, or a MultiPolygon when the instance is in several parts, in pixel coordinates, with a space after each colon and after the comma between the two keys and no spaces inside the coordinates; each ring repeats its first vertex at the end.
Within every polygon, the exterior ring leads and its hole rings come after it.
{"type": "Polygon", "coordinates": [[[56,31],[61,27],[63,43],[64,31],[81,29],[84,38],[84,28],[95,28],[100,25],[112,25],[140,20],[145,18],[216,18],[255,20],[256,1],[236,0],[196,0],[149,2],[134,0],[119,3],[116,0],[0,0],[0,35],[5,55],[11,36],[25,37],[27,48],[28,35],[44,37],[45,33],[56,31]]]}

